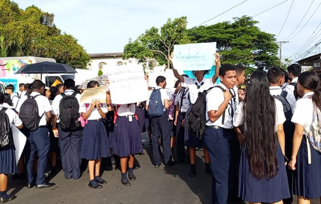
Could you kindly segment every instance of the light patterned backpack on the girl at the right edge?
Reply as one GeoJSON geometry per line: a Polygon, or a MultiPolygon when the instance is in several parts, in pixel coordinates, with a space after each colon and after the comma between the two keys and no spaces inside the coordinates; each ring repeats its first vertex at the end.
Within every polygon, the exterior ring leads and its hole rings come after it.
{"type": "MultiPolygon", "coordinates": [[[[312,95],[308,95],[307,98],[312,99],[312,95]]],[[[306,137],[312,147],[321,153],[321,111],[314,103],[312,129],[310,132],[306,132],[306,137]]]]}

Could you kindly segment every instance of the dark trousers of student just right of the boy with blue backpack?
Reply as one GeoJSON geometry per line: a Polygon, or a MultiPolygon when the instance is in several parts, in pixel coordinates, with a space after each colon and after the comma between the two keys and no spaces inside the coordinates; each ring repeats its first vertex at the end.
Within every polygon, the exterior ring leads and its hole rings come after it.
{"type": "Polygon", "coordinates": [[[184,126],[182,126],[182,121],[185,119],[186,113],[179,113],[176,125],[176,147],[177,147],[177,158],[179,160],[185,160],[185,145],[184,145],[184,126]]]}

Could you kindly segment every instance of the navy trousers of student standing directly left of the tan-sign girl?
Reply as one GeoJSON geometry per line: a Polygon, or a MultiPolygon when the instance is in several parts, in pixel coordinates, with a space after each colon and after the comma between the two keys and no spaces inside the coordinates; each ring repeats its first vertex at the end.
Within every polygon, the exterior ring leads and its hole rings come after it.
{"type": "Polygon", "coordinates": [[[62,130],[58,127],[61,164],[66,179],[79,179],[81,176],[81,147],[83,127],[73,131],[62,130]]]}

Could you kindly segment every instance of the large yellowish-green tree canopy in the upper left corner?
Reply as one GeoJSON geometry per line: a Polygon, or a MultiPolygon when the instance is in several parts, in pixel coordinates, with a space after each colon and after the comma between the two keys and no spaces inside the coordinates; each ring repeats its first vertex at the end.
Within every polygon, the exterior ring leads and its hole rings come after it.
{"type": "Polygon", "coordinates": [[[74,68],[86,68],[88,54],[77,40],[53,23],[54,15],[36,6],[22,10],[10,0],[0,0],[0,46],[2,57],[53,58],[74,68]]]}

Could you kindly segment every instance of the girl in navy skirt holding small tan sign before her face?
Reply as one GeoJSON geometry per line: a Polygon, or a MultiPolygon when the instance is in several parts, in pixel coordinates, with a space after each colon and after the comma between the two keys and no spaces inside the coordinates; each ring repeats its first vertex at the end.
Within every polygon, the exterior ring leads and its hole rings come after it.
{"type": "MultiPolygon", "coordinates": [[[[99,87],[97,81],[90,81],[87,88],[99,87]]],[[[109,94],[107,94],[109,96],[109,94]]],[[[89,187],[102,188],[100,184],[107,182],[100,178],[100,162],[101,157],[110,157],[110,145],[106,133],[106,129],[102,119],[106,117],[108,112],[106,104],[100,104],[99,100],[93,98],[90,105],[83,104],[79,109],[84,120],[87,120],[83,132],[83,143],[81,150],[81,158],[88,160],[89,169],[89,187]]]]}

